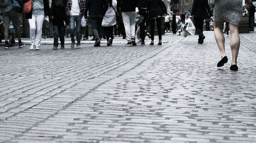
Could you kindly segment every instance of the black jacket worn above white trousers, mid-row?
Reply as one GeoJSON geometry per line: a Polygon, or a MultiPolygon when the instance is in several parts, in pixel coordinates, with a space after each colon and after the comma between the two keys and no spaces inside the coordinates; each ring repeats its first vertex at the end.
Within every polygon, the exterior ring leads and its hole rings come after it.
{"type": "Polygon", "coordinates": [[[133,12],[135,11],[138,0],[117,0],[118,12],[133,12]]]}

